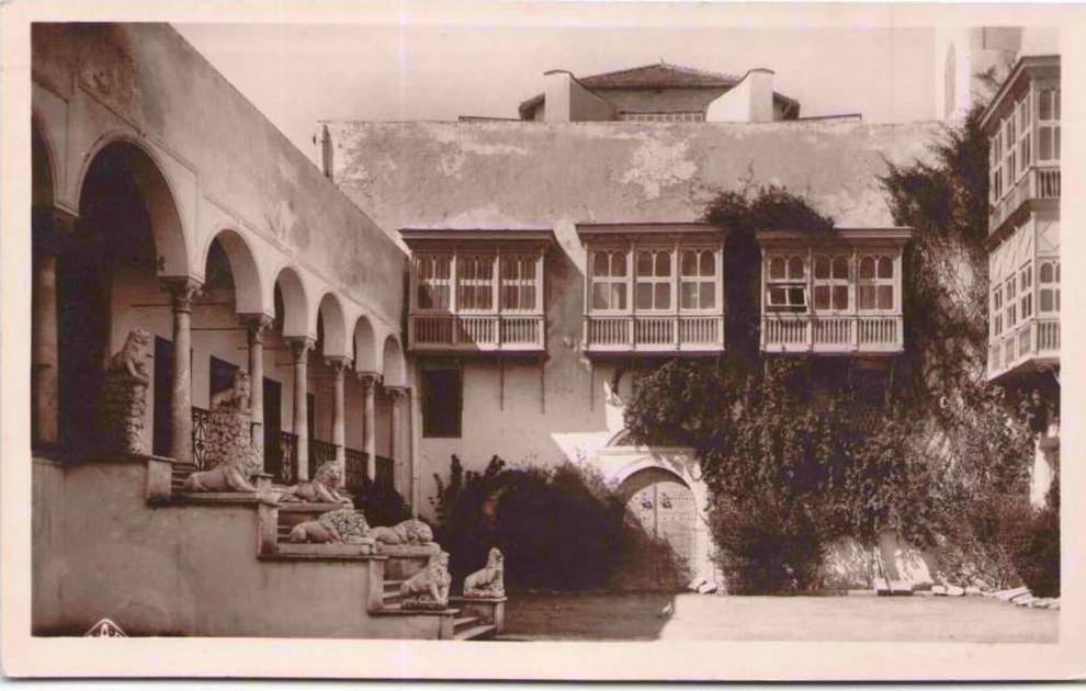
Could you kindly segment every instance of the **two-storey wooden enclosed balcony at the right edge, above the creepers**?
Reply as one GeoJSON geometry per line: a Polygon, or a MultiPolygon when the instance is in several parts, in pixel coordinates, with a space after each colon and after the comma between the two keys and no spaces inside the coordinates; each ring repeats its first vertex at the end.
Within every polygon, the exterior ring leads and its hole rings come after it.
{"type": "Polygon", "coordinates": [[[989,380],[1059,365],[1060,57],[1018,60],[982,116],[988,137],[989,380]]]}

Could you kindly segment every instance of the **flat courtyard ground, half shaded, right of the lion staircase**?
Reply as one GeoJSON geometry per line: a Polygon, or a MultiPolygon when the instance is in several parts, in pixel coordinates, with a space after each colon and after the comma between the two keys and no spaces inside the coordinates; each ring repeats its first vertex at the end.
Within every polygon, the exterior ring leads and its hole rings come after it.
{"type": "Polygon", "coordinates": [[[1055,643],[1059,619],[980,597],[533,594],[509,599],[502,638],[1055,643]]]}

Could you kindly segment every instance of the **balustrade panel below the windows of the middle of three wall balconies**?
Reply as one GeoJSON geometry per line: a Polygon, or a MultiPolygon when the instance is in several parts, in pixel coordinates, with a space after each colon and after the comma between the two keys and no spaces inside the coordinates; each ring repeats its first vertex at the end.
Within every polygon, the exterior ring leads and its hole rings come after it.
{"type": "Polygon", "coordinates": [[[719,353],[722,315],[615,315],[585,317],[588,353],[719,353]]]}

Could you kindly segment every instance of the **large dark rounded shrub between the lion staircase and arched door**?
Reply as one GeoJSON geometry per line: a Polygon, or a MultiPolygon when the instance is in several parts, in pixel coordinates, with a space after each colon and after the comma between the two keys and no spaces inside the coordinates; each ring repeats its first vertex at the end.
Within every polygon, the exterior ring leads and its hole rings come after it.
{"type": "Polygon", "coordinates": [[[491,546],[506,557],[510,590],[603,588],[644,546],[621,500],[588,468],[509,468],[494,456],[475,473],[453,456],[448,480],[434,478],[434,533],[451,555],[454,588],[486,563],[491,546]]]}

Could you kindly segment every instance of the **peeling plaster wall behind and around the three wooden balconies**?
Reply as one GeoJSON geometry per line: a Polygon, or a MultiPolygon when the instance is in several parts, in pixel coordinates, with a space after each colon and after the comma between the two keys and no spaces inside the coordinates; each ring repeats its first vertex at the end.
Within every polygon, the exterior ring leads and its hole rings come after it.
{"type": "MultiPolygon", "coordinates": [[[[577,222],[693,220],[717,190],[783,184],[842,226],[892,225],[878,175],[924,157],[936,123],[336,123],[338,185],[387,228],[550,227],[547,359],[465,359],[463,437],[422,439],[420,496],[456,453],[479,469],[590,458],[613,431],[581,352],[585,252],[577,222]],[[541,375],[542,366],[542,375],[541,375]],[[504,376],[504,386],[501,384],[504,376]]],[[[629,393],[630,376],[621,395],[629,393]]]]}

